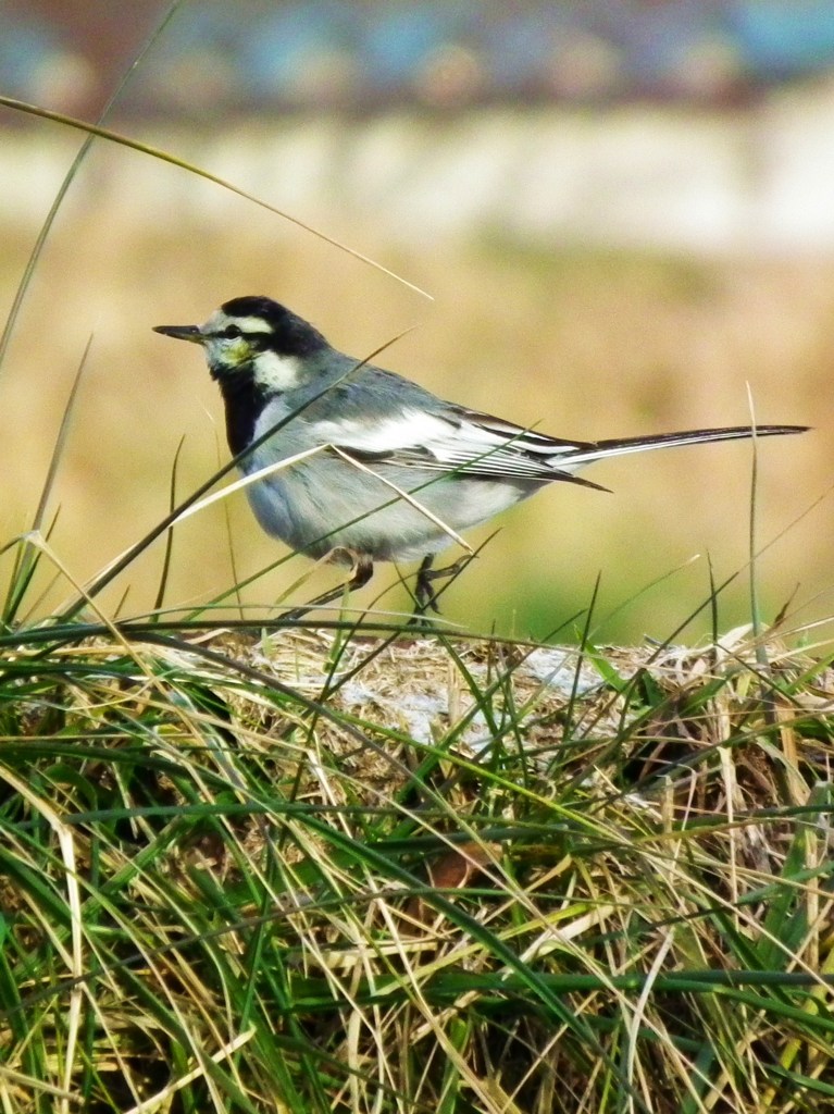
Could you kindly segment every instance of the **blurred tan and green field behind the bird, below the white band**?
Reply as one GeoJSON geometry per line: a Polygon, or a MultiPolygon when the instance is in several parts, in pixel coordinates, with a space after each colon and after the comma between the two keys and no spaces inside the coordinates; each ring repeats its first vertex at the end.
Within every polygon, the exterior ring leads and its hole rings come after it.
{"type": "MultiPolygon", "coordinates": [[[[423,243],[412,236],[413,246],[404,240],[392,246],[374,232],[372,206],[364,218],[355,211],[340,217],[335,208],[328,222],[318,221],[431,292],[429,302],[243,201],[226,197],[216,208],[176,214],[145,206],[148,160],[114,157],[137,167],[137,188],[97,190],[101,160],[78,183],[0,369],[0,544],[31,521],[90,333],[53,499],[60,517],[52,544],[73,577],[89,577],[165,512],[180,437],[180,492],[225,460],[219,398],[199,353],[150,326],[198,322],[228,297],[267,293],[359,356],[414,326],[379,362],[449,398],[559,436],[744,423],[749,383],[758,421],[815,427],[759,448],[758,541],[786,531],[758,565],[764,617],[788,599],[794,622],[831,613],[830,499],[795,520],[832,482],[834,261],[566,253],[519,246],[499,228],[423,243]]],[[[176,173],[181,192],[189,179],[176,173]]],[[[33,240],[21,228],[4,229],[4,310],[33,240]]],[[[664,637],[706,598],[707,554],[719,582],[743,568],[750,463],[742,444],[695,448],[598,467],[591,478],[614,495],[551,488],[497,524],[499,536],[447,596],[445,615],[482,631],[547,635],[588,605],[600,574],[598,637],[664,637]],[[698,561],[674,571],[696,554],[698,561]]],[[[177,530],[169,606],[230,585],[226,511],[238,576],[282,553],[261,535],[243,497],[212,508],[177,530]]],[[[0,560],[4,579],[10,557],[0,560]]],[[[124,613],[149,607],[160,565],[157,544],[110,594],[110,605],[129,585],[124,613]]],[[[306,568],[294,558],[246,598],[269,603],[306,568]]],[[[335,575],[325,570],[303,597],[335,575]]],[[[394,579],[383,569],[359,598],[370,603],[394,579]]],[[[67,594],[65,582],[41,606],[67,594]]],[[[382,602],[398,603],[396,594],[382,602]]],[[[748,615],[742,577],[722,596],[719,623],[748,615]]],[[[706,613],[686,637],[708,627],[706,613]]]]}

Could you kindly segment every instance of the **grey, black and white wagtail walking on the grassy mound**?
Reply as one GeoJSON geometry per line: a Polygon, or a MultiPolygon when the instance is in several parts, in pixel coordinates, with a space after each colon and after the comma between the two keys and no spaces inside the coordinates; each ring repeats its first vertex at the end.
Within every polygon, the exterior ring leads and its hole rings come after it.
{"type": "Polygon", "coordinates": [[[242,472],[298,458],[246,488],[266,532],[311,557],[333,551],[353,564],[350,588],[367,583],[376,560],[422,558],[415,590],[421,612],[435,606],[432,580],[451,570],[432,571],[434,554],[461,530],[555,480],[599,488],[573,475],[586,465],[807,428],[735,426],[565,441],[445,402],[345,355],[268,297],[236,297],[204,325],[157,325],[156,332],[203,345],[242,472]]]}

